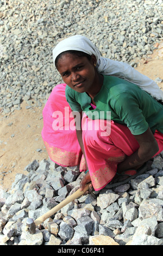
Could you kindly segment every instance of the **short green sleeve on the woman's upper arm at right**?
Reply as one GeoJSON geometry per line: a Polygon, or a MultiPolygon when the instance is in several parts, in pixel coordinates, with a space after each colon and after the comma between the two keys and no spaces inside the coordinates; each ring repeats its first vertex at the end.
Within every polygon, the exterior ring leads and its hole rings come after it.
{"type": "Polygon", "coordinates": [[[147,131],[148,123],[139,107],[139,101],[133,95],[126,92],[117,95],[112,100],[112,108],[133,135],[147,131]]]}

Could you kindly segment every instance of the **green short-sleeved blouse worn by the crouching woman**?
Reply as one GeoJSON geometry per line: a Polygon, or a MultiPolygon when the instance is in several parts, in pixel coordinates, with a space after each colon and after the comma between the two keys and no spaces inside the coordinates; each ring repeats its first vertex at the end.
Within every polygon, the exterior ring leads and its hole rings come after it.
{"type": "Polygon", "coordinates": [[[91,119],[107,119],[127,125],[133,135],[148,129],[163,133],[163,106],[139,86],[114,76],[104,75],[101,90],[94,97],[96,109],[90,106],[91,97],[66,86],[66,100],[72,111],[85,112],[91,119]]]}

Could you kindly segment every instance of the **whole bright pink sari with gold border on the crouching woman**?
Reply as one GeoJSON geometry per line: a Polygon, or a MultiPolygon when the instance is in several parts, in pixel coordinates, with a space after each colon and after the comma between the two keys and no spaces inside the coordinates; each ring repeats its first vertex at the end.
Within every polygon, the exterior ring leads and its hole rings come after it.
{"type": "MultiPolygon", "coordinates": [[[[41,134],[51,160],[60,166],[79,165],[80,171],[83,171],[86,168],[85,160],[77,140],[76,130],[68,129],[70,123],[71,127],[74,126],[74,119],[66,101],[65,87],[66,84],[59,84],[54,87],[49,96],[43,109],[41,134]],[[63,121],[60,122],[61,119],[63,121]]],[[[99,125],[99,120],[92,121],[84,114],[82,130],[92,185],[95,191],[98,191],[114,178],[117,164],[124,161],[126,156],[133,154],[139,148],[139,144],[127,126],[114,121],[102,120],[99,125]]],[[[163,150],[163,135],[156,131],[154,137],[159,145],[159,152],[156,154],[158,155],[163,150]]]]}

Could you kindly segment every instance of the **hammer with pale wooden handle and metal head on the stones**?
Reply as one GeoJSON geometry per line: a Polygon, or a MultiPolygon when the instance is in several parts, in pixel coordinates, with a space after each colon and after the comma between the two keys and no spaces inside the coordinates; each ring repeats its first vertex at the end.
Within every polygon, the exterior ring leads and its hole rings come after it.
{"type": "Polygon", "coordinates": [[[57,211],[59,211],[62,207],[67,205],[68,203],[72,202],[74,199],[82,196],[87,190],[89,190],[89,185],[91,184],[88,183],[85,185],[84,189],[80,191],[79,189],[71,194],[71,196],[68,196],[65,200],[63,200],[61,203],[56,205],[54,208],[46,212],[46,214],[43,214],[39,218],[37,218],[35,221],[32,218],[28,218],[27,220],[27,227],[26,231],[29,230],[30,234],[35,234],[36,231],[36,226],[40,225],[42,222],[44,222],[47,218],[51,217],[53,214],[55,214],[57,211]]]}

